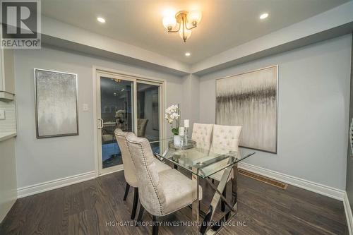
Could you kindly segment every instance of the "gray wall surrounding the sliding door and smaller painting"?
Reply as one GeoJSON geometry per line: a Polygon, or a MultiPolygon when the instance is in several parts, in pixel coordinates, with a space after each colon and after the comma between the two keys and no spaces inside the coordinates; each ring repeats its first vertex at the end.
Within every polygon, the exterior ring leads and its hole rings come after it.
{"type": "MultiPolygon", "coordinates": [[[[182,80],[157,71],[118,64],[87,54],[52,47],[19,49],[15,52],[16,98],[18,104],[18,137],[16,162],[18,188],[61,179],[95,170],[92,113],[92,66],[102,66],[167,81],[166,106],[182,103],[182,80]],[[33,68],[78,74],[78,136],[36,139],[33,68]],[[89,112],[83,112],[88,104],[89,112]]],[[[166,125],[166,128],[169,126],[166,125]]]]}

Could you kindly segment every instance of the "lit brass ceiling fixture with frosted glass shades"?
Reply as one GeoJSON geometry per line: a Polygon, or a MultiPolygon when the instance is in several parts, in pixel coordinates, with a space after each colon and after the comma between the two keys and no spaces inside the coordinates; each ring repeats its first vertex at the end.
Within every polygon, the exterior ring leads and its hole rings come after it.
{"type": "Polygon", "coordinates": [[[168,32],[179,32],[184,42],[191,37],[191,30],[201,21],[201,11],[179,11],[175,16],[164,16],[162,23],[168,32]],[[179,24],[177,29],[175,26],[179,24]]]}

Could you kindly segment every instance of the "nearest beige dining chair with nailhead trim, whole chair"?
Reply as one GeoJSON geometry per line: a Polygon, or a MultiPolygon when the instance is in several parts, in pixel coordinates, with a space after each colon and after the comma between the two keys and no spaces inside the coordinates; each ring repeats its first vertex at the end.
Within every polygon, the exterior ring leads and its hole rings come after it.
{"type": "MultiPolygon", "coordinates": [[[[140,215],[145,209],[152,215],[153,222],[156,222],[157,217],[169,215],[190,205],[194,200],[202,199],[201,186],[199,195],[196,195],[197,186],[176,169],[157,171],[147,139],[128,133],[126,140],[136,167],[140,191],[140,215]]],[[[154,224],[152,234],[155,235],[158,234],[158,225],[154,224]]]]}

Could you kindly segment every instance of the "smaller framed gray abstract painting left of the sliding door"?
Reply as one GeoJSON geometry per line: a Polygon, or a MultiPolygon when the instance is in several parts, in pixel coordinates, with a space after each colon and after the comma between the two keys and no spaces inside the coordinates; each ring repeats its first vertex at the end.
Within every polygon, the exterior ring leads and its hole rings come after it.
{"type": "Polygon", "coordinates": [[[35,68],[37,138],[78,135],[77,74],[35,68]]]}

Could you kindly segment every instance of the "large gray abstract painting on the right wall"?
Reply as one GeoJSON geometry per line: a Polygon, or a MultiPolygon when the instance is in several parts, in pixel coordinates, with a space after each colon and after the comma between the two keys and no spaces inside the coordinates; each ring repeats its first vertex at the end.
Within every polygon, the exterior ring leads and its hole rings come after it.
{"type": "Polygon", "coordinates": [[[278,66],[216,80],[216,123],[242,126],[239,146],[277,152],[278,66]]]}

